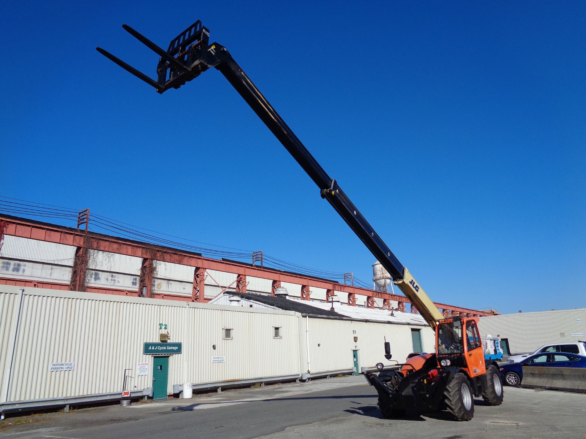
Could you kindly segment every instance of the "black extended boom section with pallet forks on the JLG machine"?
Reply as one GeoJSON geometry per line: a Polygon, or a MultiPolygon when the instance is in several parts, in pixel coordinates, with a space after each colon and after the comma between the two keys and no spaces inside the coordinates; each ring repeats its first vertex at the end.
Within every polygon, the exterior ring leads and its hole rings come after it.
{"type": "MultiPolygon", "coordinates": [[[[314,156],[309,153],[301,140],[289,128],[277,111],[258,91],[246,73],[234,61],[224,46],[218,43],[209,43],[209,30],[197,20],[192,26],[171,40],[167,50],[157,46],[151,40],[142,36],[128,25],[122,26],[124,30],[137,38],[149,49],[159,55],[156,73],[157,80],[149,78],[134,67],[118,59],[113,54],[97,47],[98,52],[114,61],[145,83],[151,85],[157,92],[163,93],[170,88],[179,88],[181,85],[196,78],[210,67],[215,67],[239,92],[240,96],[250,105],[250,108],[258,115],[261,121],[288,150],[293,158],[305,170],[309,177],[319,187],[322,198],[328,200],[338,212],[346,224],[352,228],[355,234],[366,245],[373,256],[379,260],[384,268],[395,280],[403,279],[403,265],[398,261],[393,252],[383,242],[366,218],[360,214],[356,206],[346,196],[335,180],[331,179],[323,170],[314,156]]],[[[326,231],[327,232],[327,231],[326,231]]]]}

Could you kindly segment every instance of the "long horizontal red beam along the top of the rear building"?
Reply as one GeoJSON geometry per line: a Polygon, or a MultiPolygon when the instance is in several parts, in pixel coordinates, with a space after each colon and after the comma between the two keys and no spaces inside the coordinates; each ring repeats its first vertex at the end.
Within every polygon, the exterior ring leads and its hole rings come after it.
{"type": "MultiPolygon", "coordinates": [[[[39,239],[40,241],[56,242],[73,246],[84,245],[84,235],[86,232],[80,232],[76,229],[59,227],[56,225],[36,224],[35,222],[26,219],[5,218],[0,215],[0,221],[8,222],[5,226],[4,233],[6,235],[22,236],[23,238],[39,239]]],[[[360,288],[352,285],[345,285],[335,282],[328,282],[321,279],[313,279],[302,275],[294,275],[291,273],[280,273],[273,270],[264,269],[262,267],[251,267],[247,265],[240,265],[235,262],[224,260],[203,258],[203,256],[193,255],[179,249],[169,249],[165,247],[156,246],[149,243],[128,242],[116,236],[108,236],[101,234],[94,234],[87,232],[90,237],[88,239],[88,248],[100,250],[104,252],[120,253],[121,255],[136,256],[143,259],[156,259],[163,262],[172,262],[181,265],[189,265],[196,268],[206,270],[218,270],[227,273],[235,273],[241,276],[261,277],[263,279],[270,279],[273,281],[273,290],[275,285],[281,282],[289,282],[300,285],[305,285],[311,288],[322,288],[325,290],[336,290],[348,294],[350,305],[355,305],[355,295],[387,299],[403,303],[410,303],[407,297],[398,294],[382,293],[380,291],[373,291],[365,288],[360,288]],[[352,302],[352,303],[351,303],[352,302]]],[[[182,297],[182,296],[177,296],[182,297]]],[[[192,300],[188,298],[186,300],[192,300]]],[[[367,299],[369,300],[369,299],[367,299]]],[[[457,311],[459,313],[469,313],[475,315],[492,315],[483,311],[472,310],[470,308],[462,308],[442,303],[435,303],[435,306],[444,310],[457,311]]]]}

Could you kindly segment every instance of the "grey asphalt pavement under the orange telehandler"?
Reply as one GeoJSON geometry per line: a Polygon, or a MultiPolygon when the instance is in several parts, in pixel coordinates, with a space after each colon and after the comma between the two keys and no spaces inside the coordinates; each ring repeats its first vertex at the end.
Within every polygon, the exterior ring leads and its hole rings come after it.
{"type": "Polygon", "coordinates": [[[11,417],[2,438],[573,438],[586,439],[586,395],[505,387],[502,406],[475,400],[469,422],[447,413],[383,419],[363,376],[11,417]],[[9,425],[12,424],[12,425],[9,425]]]}

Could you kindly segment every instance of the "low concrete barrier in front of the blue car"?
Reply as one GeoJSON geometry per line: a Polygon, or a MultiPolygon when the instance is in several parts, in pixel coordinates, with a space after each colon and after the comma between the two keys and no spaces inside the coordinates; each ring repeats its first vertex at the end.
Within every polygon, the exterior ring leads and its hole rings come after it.
{"type": "Polygon", "coordinates": [[[586,393],[586,368],[537,368],[523,366],[521,387],[586,393]]]}

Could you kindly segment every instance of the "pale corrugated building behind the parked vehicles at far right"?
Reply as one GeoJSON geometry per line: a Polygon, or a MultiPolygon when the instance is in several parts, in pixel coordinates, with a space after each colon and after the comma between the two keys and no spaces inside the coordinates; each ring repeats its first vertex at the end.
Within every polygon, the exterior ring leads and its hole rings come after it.
{"type": "Polygon", "coordinates": [[[533,352],[551,343],[586,340],[586,308],[481,317],[482,335],[503,339],[510,354],[533,352]]]}

